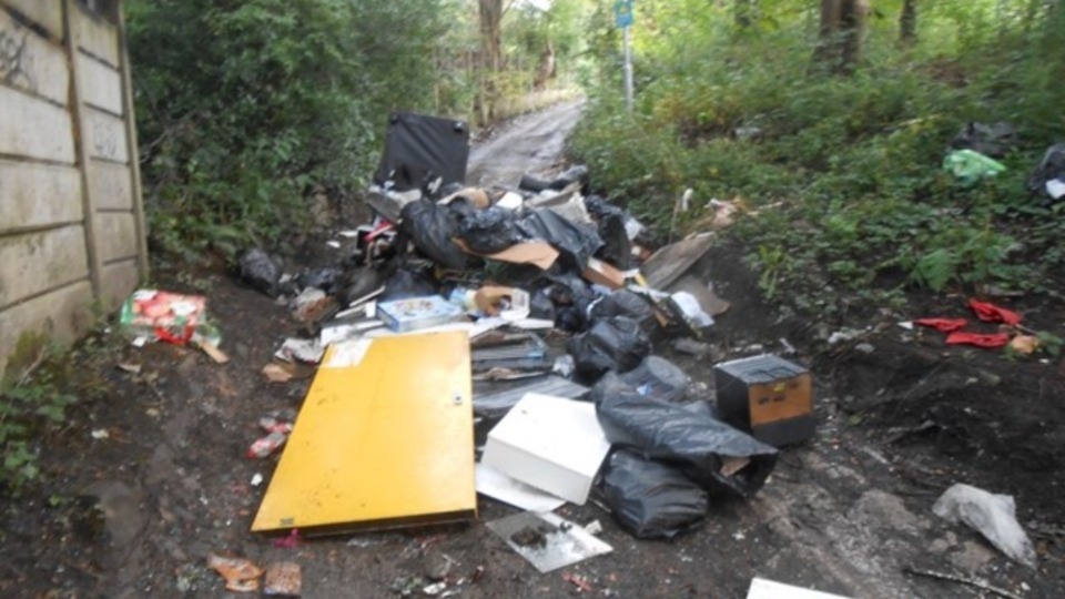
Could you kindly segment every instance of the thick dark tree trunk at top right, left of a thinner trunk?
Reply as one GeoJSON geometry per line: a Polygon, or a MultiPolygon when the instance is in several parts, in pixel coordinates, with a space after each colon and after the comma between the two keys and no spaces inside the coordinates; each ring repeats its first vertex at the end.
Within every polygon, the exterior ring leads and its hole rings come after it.
{"type": "Polygon", "coordinates": [[[821,0],[821,24],[813,69],[851,74],[862,59],[868,0],[821,0]]]}

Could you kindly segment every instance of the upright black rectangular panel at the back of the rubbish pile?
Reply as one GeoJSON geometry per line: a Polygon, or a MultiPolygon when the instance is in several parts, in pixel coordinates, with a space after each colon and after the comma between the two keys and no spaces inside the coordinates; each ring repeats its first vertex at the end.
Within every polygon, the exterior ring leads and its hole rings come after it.
{"type": "Polygon", "coordinates": [[[395,112],[388,118],[385,151],[374,182],[396,191],[420,189],[439,176],[444,185],[466,179],[469,125],[462,121],[395,112]]]}

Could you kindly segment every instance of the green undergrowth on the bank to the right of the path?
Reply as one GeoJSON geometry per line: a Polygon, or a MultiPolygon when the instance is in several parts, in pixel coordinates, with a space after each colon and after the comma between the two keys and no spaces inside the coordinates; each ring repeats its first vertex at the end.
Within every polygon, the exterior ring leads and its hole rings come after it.
{"type": "MultiPolygon", "coordinates": [[[[599,4],[597,47],[617,57],[610,3],[599,4]]],[[[848,69],[818,63],[829,59],[815,2],[637,10],[636,111],[608,64],[572,152],[638,215],[667,229],[687,186],[699,206],[742,199],[758,216],[729,234],[752,248],[763,290],[822,313],[855,295],[897,302],[904,285],[1053,290],[1065,209],[1025,179],[1065,134],[1065,2],[872,2],[848,69]],[[904,4],[919,11],[916,39],[901,42],[904,4]],[[966,189],[941,164],[970,121],[1010,122],[1021,140],[1006,173],[966,189]]]]}

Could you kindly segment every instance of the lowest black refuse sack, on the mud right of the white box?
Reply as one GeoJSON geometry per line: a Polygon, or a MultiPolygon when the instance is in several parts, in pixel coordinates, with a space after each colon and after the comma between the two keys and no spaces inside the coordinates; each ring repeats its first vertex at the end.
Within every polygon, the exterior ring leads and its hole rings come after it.
{"type": "Polygon", "coordinates": [[[706,491],[674,467],[620,449],[602,476],[607,506],[638,539],[671,539],[707,516],[706,491]]]}

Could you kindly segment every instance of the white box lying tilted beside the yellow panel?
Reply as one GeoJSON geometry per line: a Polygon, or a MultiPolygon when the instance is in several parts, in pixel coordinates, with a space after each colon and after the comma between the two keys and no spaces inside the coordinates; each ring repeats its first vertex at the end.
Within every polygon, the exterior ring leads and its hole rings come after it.
{"type": "Polygon", "coordinates": [[[584,505],[609,450],[594,404],[530,393],[488,433],[481,461],[584,505]]]}

